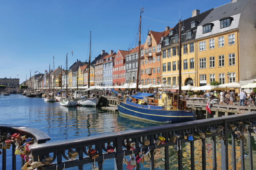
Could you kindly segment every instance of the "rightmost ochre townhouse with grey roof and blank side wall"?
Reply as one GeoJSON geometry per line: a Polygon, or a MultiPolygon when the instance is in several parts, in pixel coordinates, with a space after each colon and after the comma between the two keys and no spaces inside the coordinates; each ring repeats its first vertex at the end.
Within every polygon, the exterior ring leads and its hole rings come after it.
{"type": "Polygon", "coordinates": [[[198,24],[196,85],[256,79],[255,0],[232,0],[198,24]]]}

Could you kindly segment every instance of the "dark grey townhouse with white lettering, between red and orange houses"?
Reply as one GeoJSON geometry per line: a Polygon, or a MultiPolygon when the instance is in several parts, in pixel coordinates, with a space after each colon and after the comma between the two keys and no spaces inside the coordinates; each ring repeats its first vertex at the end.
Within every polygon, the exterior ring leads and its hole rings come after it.
{"type": "MultiPolygon", "coordinates": [[[[140,45],[141,55],[143,57],[143,47],[144,44],[140,45]]],[[[136,83],[137,81],[137,71],[138,71],[138,54],[139,46],[132,48],[132,50],[128,51],[128,54],[125,55],[125,83],[136,83]]],[[[139,74],[140,76],[140,74],[139,74]]],[[[139,79],[140,80],[140,79],[139,79]]]]}

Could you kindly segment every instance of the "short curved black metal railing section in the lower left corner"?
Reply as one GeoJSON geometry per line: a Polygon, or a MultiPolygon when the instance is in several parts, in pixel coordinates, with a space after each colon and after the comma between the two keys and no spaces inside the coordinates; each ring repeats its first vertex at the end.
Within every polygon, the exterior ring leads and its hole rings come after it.
{"type": "MultiPolygon", "coordinates": [[[[6,125],[0,124],[1,134],[4,133],[19,133],[21,136],[28,136],[34,138],[34,143],[43,144],[46,141],[50,140],[50,137],[41,130],[23,127],[23,126],[16,126],[16,125],[6,125]]],[[[12,169],[16,169],[16,155],[15,155],[15,148],[16,145],[12,143],[12,169]]],[[[10,159],[9,159],[10,160],[10,159]]],[[[24,165],[25,161],[21,158],[21,167],[24,165]]],[[[6,169],[6,149],[2,149],[2,169],[6,169]]],[[[11,169],[10,167],[8,169],[11,169]]]]}

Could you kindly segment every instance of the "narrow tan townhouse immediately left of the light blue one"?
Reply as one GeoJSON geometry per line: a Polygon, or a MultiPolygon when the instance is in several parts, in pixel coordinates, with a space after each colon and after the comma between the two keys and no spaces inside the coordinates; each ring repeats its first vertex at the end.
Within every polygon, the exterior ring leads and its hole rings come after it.
{"type": "Polygon", "coordinates": [[[103,86],[103,65],[102,63],[105,61],[105,56],[108,53],[105,53],[105,50],[101,50],[101,54],[98,55],[93,61],[94,64],[94,85],[103,86]],[[95,61],[95,63],[94,63],[95,61]]]}

